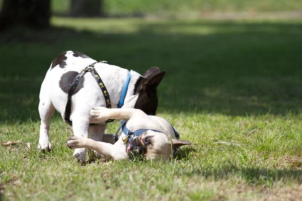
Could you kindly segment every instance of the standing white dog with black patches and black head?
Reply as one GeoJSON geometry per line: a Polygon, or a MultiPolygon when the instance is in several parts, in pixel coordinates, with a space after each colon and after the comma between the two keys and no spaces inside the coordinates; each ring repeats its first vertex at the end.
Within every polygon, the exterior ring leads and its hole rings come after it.
{"type": "MultiPolygon", "coordinates": [[[[102,78],[102,84],[106,85],[107,90],[101,90],[95,80],[96,77],[90,73],[85,74],[78,85],[73,87],[69,119],[72,121],[74,136],[88,138],[90,134],[91,139],[96,141],[106,142],[110,140],[103,139],[107,123],[103,120],[93,119],[89,111],[95,106],[106,107],[108,99],[106,99],[106,103],[105,95],[108,94],[111,107],[117,108],[128,76],[130,79],[124,94],[123,108],[136,108],[148,115],[155,115],[158,107],[157,86],[162,81],[165,71],[160,72],[159,68],[153,67],[141,76],[133,70],[128,71],[108,63],[96,63],[96,60],[80,52],[63,52],[51,63],[41,85],[39,96],[39,114],[41,118],[39,149],[51,149],[48,138],[50,119],[54,111],[57,110],[62,118],[66,120],[65,107],[68,98],[67,93],[72,88],[70,85],[73,84],[74,78],[80,72],[83,72],[85,67],[93,63],[94,70],[99,73],[98,78],[102,78]],[[90,126],[90,124],[95,125],[90,126]]],[[[85,161],[85,155],[85,148],[75,149],[73,153],[73,156],[78,157],[81,161],[85,161]]]]}

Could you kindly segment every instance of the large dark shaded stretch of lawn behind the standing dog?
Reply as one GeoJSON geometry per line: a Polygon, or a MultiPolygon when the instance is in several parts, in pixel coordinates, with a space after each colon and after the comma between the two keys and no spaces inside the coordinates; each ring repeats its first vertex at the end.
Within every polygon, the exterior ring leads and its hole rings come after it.
{"type": "MultiPolygon", "coordinates": [[[[53,58],[75,50],[143,73],[166,70],[158,112],[299,114],[299,23],[140,23],[132,34],[16,29],[0,38],[0,122],[39,120],[39,89],[53,58]]],[[[85,67],[85,66],[83,66],[85,67]]]]}

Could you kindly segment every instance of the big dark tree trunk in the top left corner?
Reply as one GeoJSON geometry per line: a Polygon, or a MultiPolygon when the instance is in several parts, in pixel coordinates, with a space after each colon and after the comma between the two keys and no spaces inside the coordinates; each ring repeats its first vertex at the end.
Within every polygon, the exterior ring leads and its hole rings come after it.
{"type": "Polygon", "coordinates": [[[49,27],[50,0],[4,0],[0,31],[12,26],[43,29],[49,27]]]}

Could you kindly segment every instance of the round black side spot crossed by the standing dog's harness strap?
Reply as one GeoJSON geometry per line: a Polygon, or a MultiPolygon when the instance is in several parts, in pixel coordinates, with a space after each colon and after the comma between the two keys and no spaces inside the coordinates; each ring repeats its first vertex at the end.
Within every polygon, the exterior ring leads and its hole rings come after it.
{"type": "MultiPolygon", "coordinates": [[[[70,85],[72,84],[75,76],[77,76],[78,74],[79,73],[76,71],[68,71],[61,76],[61,79],[59,81],[59,86],[62,89],[62,91],[68,93],[70,85]]],[[[75,87],[73,94],[77,93],[81,88],[84,87],[84,80],[85,77],[82,77],[77,87],[75,87]]]]}

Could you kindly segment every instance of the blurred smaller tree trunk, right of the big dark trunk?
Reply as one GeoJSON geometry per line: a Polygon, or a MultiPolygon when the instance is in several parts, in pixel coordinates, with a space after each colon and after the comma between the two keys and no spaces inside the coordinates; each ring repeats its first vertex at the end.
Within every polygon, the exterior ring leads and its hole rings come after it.
{"type": "Polygon", "coordinates": [[[71,0],[71,16],[104,17],[103,0],[71,0]]]}

